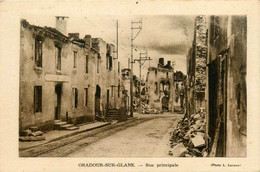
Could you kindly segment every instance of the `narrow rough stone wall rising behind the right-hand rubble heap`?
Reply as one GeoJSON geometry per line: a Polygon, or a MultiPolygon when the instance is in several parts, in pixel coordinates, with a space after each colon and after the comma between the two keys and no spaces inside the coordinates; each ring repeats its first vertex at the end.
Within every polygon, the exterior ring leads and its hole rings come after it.
{"type": "Polygon", "coordinates": [[[188,114],[205,109],[206,60],[207,60],[206,17],[195,18],[192,47],[187,56],[187,111],[188,114]]]}

